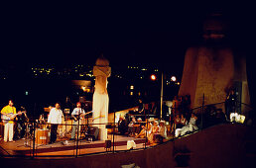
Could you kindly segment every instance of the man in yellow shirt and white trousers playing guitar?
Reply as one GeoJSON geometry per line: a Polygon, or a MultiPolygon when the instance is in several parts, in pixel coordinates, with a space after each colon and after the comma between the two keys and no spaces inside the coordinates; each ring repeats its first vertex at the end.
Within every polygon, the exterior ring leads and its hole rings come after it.
{"type": "Polygon", "coordinates": [[[9,141],[13,142],[13,119],[16,117],[16,108],[12,100],[9,100],[9,104],[2,109],[1,114],[4,122],[4,141],[7,142],[9,136],[9,141]]]}

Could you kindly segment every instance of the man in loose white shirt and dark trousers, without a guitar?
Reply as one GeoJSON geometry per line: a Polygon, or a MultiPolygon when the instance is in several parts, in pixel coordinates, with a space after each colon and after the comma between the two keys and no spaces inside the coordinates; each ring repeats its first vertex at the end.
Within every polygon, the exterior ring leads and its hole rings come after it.
{"type": "Polygon", "coordinates": [[[56,104],[55,108],[52,108],[48,117],[48,123],[51,125],[51,138],[49,143],[56,142],[58,125],[63,122],[64,114],[61,110],[60,103],[56,104]]]}

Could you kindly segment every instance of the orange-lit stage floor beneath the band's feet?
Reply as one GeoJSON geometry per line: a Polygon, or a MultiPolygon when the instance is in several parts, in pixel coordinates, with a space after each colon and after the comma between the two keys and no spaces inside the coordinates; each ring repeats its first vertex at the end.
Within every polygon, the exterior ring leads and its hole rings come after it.
{"type": "MultiPolygon", "coordinates": [[[[108,135],[111,140],[111,148],[108,151],[113,151],[113,136],[108,135]]],[[[145,138],[129,137],[127,135],[114,136],[114,150],[127,150],[127,141],[134,140],[136,148],[145,147],[145,138]]],[[[31,139],[18,139],[15,142],[4,142],[0,140],[0,155],[16,155],[16,156],[33,156],[33,141],[31,139]]],[[[147,145],[148,146],[148,145],[147,145]]],[[[34,156],[75,156],[77,148],[77,155],[105,152],[105,141],[87,141],[81,139],[78,141],[69,140],[67,138],[59,138],[53,144],[36,144],[34,156]]]]}

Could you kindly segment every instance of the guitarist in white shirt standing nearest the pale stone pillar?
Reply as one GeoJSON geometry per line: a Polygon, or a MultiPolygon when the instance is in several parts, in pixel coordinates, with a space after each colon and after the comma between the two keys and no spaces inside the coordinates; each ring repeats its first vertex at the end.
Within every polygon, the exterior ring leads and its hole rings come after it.
{"type": "Polygon", "coordinates": [[[84,110],[81,108],[81,103],[76,103],[76,108],[73,109],[71,116],[73,118],[73,125],[72,125],[72,131],[71,131],[71,138],[70,140],[73,140],[75,138],[75,130],[77,129],[78,120],[80,117],[83,117],[85,115],[84,110]]]}

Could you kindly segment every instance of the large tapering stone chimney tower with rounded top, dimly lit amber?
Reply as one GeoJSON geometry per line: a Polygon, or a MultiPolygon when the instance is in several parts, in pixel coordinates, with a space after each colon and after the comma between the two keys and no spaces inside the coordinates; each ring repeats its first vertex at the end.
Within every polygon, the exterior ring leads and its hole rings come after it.
{"type": "Polygon", "coordinates": [[[249,104],[245,56],[236,52],[227,41],[228,31],[220,14],[211,15],[203,26],[204,42],[190,47],[179,95],[191,95],[192,108],[224,102],[227,93],[235,89],[237,100],[249,104]]]}

